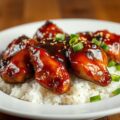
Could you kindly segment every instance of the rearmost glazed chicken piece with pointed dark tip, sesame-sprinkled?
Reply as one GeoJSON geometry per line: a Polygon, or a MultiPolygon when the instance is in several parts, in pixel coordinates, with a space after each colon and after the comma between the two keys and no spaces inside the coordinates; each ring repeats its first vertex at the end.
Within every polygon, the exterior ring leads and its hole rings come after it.
{"type": "Polygon", "coordinates": [[[41,28],[37,30],[34,38],[39,41],[42,48],[47,49],[50,55],[55,56],[58,61],[63,58],[65,60],[63,61],[63,64],[67,66],[66,63],[68,61],[65,57],[65,51],[69,47],[67,41],[68,35],[65,34],[59,27],[57,27],[52,22],[47,21],[41,28]],[[64,40],[56,40],[57,34],[62,34],[64,40]]]}

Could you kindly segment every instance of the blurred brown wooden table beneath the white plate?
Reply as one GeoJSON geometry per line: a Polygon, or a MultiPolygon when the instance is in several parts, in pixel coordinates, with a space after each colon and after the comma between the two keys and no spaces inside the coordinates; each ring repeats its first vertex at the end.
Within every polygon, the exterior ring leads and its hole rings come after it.
{"type": "MultiPolygon", "coordinates": [[[[120,0],[0,0],[0,30],[53,18],[120,22],[120,0]]],[[[0,120],[26,120],[0,113],[0,120]]],[[[99,120],[120,120],[120,114],[99,120]]]]}

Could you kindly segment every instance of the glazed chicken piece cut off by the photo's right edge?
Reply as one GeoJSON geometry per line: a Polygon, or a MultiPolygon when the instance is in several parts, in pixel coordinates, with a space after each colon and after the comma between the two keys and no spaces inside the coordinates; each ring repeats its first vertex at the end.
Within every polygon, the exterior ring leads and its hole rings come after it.
{"type": "Polygon", "coordinates": [[[102,30],[95,32],[94,38],[105,42],[109,47],[109,49],[105,51],[108,57],[117,63],[120,63],[120,35],[110,33],[107,30],[102,30]]]}

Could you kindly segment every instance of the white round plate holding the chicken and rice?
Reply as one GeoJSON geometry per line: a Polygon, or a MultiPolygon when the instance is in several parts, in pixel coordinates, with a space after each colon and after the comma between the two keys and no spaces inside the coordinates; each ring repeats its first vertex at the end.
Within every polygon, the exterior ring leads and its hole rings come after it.
{"type": "MultiPolygon", "coordinates": [[[[120,34],[120,24],[87,20],[87,19],[61,19],[53,20],[59,27],[69,33],[79,31],[96,31],[107,29],[120,34]]],[[[22,34],[32,37],[35,31],[44,23],[36,22],[14,27],[0,33],[0,51],[8,43],[22,34]]],[[[120,95],[96,103],[82,105],[40,105],[18,100],[0,91],[0,111],[26,118],[48,119],[90,119],[99,118],[120,112],[120,95]]]]}

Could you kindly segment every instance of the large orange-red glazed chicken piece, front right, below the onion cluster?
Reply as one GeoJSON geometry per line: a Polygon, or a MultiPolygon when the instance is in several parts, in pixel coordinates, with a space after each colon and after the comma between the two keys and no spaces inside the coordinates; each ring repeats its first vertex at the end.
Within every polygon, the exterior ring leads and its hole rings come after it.
{"type": "Polygon", "coordinates": [[[70,48],[68,54],[71,67],[78,77],[101,86],[107,86],[111,82],[107,56],[101,48],[87,42],[82,50],[74,52],[70,48]]]}

